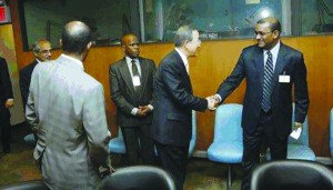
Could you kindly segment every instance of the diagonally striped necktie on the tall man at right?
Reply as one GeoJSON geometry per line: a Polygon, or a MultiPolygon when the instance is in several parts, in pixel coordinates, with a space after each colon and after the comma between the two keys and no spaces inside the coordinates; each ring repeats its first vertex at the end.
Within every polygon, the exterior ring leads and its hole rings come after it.
{"type": "Polygon", "coordinates": [[[271,96],[273,91],[273,58],[271,51],[266,52],[269,58],[264,68],[263,93],[261,108],[268,112],[271,109],[271,96]]]}

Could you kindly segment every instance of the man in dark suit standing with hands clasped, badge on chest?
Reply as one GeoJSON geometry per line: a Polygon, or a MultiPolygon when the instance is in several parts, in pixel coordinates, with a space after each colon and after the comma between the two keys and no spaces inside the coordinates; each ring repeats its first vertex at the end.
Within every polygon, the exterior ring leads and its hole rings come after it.
{"type": "Polygon", "coordinates": [[[143,164],[154,164],[151,121],[152,82],[157,68],[152,60],[139,57],[140,47],[134,34],[123,36],[121,46],[125,57],[109,68],[117,123],[122,130],[129,164],[139,163],[139,152],[143,164]]]}

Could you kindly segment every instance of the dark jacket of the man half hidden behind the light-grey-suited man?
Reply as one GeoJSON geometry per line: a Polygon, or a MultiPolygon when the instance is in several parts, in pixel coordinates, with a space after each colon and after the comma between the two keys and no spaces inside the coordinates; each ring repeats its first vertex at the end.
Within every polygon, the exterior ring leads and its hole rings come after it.
{"type": "Polygon", "coordinates": [[[30,64],[26,66],[23,69],[20,70],[20,89],[21,89],[24,110],[29,97],[31,74],[37,63],[38,63],[37,60],[34,60],[33,62],[31,62],[30,64]]]}

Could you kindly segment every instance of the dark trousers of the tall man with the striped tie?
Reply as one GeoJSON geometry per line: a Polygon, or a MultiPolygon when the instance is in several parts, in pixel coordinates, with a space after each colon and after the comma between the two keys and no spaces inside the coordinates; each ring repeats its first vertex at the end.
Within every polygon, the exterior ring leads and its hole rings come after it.
{"type": "Polygon", "coordinates": [[[260,121],[254,132],[249,133],[243,129],[243,180],[242,190],[250,189],[251,172],[260,162],[261,143],[265,139],[268,147],[270,147],[272,160],[286,159],[286,142],[284,139],[278,138],[278,133],[272,124],[272,111],[264,112],[261,110],[260,121]]]}

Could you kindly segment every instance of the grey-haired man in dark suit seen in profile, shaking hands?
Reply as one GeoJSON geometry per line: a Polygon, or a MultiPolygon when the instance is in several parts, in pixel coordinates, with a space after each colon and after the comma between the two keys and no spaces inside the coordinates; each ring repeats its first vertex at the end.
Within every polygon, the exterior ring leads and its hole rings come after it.
{"type": "Polygon", "coordinates": [[[204,111],[213,101],[193,94],[188,58],[200,47],[196,29],[183,26],[174,37],[175,49],[167,54],[154,78],[152,134],[164,170],[178,190],[183,189],[191,140],[192,110],[204,111]]]}

